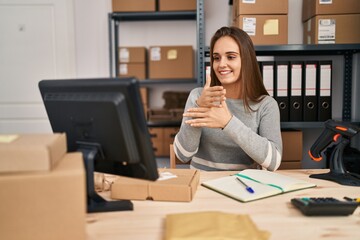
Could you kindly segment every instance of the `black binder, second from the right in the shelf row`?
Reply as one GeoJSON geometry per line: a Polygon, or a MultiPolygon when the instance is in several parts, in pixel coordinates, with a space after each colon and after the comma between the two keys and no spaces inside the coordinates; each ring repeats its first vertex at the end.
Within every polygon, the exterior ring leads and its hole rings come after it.
{"type": "Polygon", "coordinates": [[[306,61],[304,64],[304,87],[303,87],[303,120],[305,122],[317,121],[318,103],[316,96],[317,61],[306,61]]]}

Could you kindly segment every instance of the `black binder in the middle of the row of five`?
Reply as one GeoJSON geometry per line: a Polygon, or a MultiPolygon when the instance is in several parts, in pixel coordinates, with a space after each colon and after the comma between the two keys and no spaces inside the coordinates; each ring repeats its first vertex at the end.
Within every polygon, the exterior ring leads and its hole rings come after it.
{"type": "Polygon", "coordinates": [[[302,96],[302,81],[303,81],[303,67],[304,63],[300,61],[290,62],[290,122],[301,122],[303,120],[303,96],[302,96]]]}

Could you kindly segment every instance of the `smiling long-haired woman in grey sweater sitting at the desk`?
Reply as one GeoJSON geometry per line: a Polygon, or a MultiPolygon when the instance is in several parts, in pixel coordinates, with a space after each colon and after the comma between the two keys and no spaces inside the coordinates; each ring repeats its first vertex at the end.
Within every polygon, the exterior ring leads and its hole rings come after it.
{"type": "Polygon", "coordinates": [[[205,86],[187,99],[176,156],[201,170],[275,171],[282,155],[280,113],[250,37],[236,27],[220,28],[211,39],[210,61],[205,86]]]}

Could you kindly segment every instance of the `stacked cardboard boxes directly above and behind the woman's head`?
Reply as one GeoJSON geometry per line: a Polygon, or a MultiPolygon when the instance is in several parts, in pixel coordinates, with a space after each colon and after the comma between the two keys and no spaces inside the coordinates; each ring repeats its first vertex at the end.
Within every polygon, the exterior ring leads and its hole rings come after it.
{"type": "Polygon", "coordinates": [[[232,15],[254,45],[288,43],[288,0],[234,0],[232,15]]]}

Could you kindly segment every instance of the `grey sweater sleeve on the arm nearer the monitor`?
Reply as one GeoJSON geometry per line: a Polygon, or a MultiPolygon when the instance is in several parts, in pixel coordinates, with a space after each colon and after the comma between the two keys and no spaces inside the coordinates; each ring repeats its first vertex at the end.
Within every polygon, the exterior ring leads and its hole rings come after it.
{"type": "MultiPolygon", "coordinates": [[[[201,95],[202,88],[193,89],[185,104],[185,110],[189,108],[198,107],[196,100],[201,95]]],[[[183,117],[180,130],[174,138],[174,152],[179,160],[188,162],[198,151],[201,128],[194,128],[186,124],[185,121],[190,119],[189,117],[183,117]]]]}

